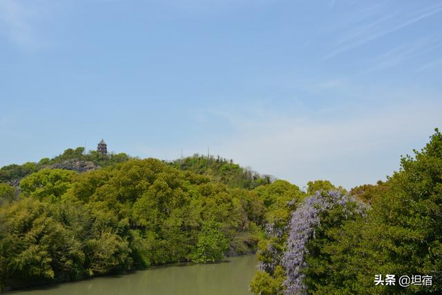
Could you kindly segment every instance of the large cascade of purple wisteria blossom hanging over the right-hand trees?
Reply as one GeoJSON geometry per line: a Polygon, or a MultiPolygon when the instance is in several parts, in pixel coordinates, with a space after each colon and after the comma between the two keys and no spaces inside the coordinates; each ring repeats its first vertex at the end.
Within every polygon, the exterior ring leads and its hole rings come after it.
{"type": "Polygon", "coordinates": [[[305,198],[291,215],[291,220],[287,225],[289,230],[287,251],[282,257],[282,265],[287,273],[285,294],[307,294],[307,289],[302,283],[304,275],[301,273],[302,268],[307,266],[305,256],[308,250],[305,246],[310,238],[314,238],[315,229],[320,227],[320,213],[335,206],[343,207],[346,217],[354,213],[365,215],[367,211],[367,205],[342,191],[329,191],[329,193],[322,194],[317,191],[314,196],[305,198]],[[356,202],[356,209],[349,210],[346,206],[348,202],[356,202]]]}

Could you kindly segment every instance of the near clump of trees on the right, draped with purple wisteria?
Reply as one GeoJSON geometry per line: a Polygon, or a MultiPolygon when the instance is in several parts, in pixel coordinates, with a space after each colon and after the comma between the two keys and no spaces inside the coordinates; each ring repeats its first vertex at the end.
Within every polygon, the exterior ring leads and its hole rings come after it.
{"type": "Polygon", "coordinates": [[[258,256],[255,294],[441,294],[442,134],[402,157],[386,182],[349,193],[310,182],[258,256]]]}

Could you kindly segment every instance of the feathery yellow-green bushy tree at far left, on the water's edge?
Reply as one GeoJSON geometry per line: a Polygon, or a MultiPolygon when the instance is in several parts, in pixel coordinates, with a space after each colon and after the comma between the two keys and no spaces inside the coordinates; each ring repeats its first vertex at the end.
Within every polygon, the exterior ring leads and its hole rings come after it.
{"type": "Polygon", "coordinates": [[[84,256],[54,205],[24,198],[0,209],[0,280],[26,286],[77,276],[84,256]]]}

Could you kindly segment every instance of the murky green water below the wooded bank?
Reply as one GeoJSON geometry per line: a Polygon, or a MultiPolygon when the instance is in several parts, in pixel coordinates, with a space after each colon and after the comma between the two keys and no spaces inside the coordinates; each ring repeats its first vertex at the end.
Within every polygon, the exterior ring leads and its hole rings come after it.
{"type": "Polygon", "coordinates": [[[5,295],[246,295],[258,265],[256,255],[229,257],[222,263],[177,264],[91,278],[5,295]]]}

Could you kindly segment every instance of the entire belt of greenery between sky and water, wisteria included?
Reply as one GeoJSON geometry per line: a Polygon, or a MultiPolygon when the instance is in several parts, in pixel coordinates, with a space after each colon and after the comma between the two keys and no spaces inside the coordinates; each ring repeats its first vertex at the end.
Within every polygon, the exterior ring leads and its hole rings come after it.
{"type": "Polygon", "coordinates": [[[164,162],[81,148],[0,171],[2,288],[257,252],[254,294],[442,292],[437,129],[386,182],[350,191],[316,180],[303,192],[222,158],[164,162]],[[78,161],[95,166],[71,169],[78,161]],[[432,284],[376,285],[379,274],[432,284]]]}

